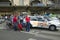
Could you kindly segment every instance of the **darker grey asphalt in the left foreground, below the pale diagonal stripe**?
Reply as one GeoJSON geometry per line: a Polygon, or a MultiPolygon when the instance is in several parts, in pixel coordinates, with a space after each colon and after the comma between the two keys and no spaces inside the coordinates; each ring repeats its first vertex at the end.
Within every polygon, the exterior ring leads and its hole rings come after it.
{"type": "Polygon", "coordinates": [[[37,37],[25,31],[0,30],[0,40],[51,40],[48,38],[37,37]]]}

